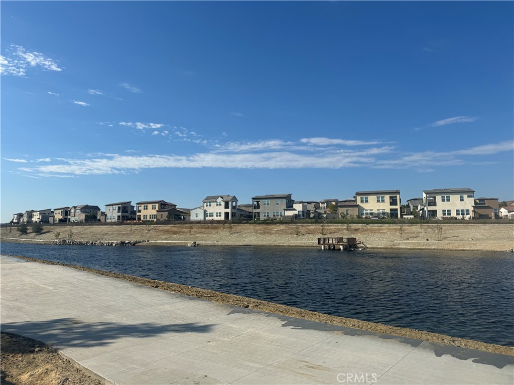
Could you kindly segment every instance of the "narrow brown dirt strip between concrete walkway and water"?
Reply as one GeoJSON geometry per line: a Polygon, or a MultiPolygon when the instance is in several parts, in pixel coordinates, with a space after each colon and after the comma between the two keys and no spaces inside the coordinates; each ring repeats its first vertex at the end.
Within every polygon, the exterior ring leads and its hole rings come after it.
{"type": "Polygon", "coordinates": [[[362,321],[352,318],[331,316],[328,314],[317,313],[313,311],[308,311],[304,309],[299,309],[298,307],[292,307],[287,305],[281,305],[278,303],[263,301],[259,299],[253,299],[243,296],[237,296],[233,294],[226,294],[221,292],[214,292],[207,289],[202,289],[194,286],[182,285],[178,283],[164,282],[159,280],[140,278],[136,276],[113,273],[102,271],[99,269],[83,267],[78,265],[72,265],[62,262],[53,262],[44,259],[24,257],[24,256],[14,256],[14,255],[6,255],[8,257],[14,257],[30,262],[35,263],[45,263],[52,265],[60,265],[66,266],[70,268],[75,268],[78,270],[99,274],[107,277],[112,277],[116,279],[125,280],[128,282],[133,282],[137,284],[142,284],[154,288],[158,288],[160,290],[170,291],[174,293],[179,293],[183,295],[188,295],[196,298],[207,299],[210,301],[215,301],[219,303],[225,303],[235,306],[240,306],[248,309],[260,310],[273,314],[280,314],[289,317],[302,318],[310,321],[323,322],[332,325],[345,326],[347,328],[359,329],[365,332],[393,335],[399,337],[413,338],[419,339],[422,341],[443,343],[446,345],[451,345],[459,348],[466,349],[474,349],[480,350],[484,352],[490,353],[498,353],[504,354],[508,356],[514,356],[514,347],[506,347],[502,345],[497,345],[493,343],[474,341],[464,338],[451,337],[444,334],[432,333],[427,331],[420,331],[415,329],[408,328],[400,328],[398,326],[390,326],[384,325],[376,322],[362,321]]]}

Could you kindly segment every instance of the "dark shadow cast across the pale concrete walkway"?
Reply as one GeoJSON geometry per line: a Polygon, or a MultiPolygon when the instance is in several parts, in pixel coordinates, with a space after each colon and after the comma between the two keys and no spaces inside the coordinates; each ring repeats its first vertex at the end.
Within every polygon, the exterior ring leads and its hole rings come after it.
{"type": "Polygon", "coordinates": [[[117,322],[84,322],[76,318],[59,318],[47,321],[3,323],[2,332],[19,334],[59,345],[60,348],[89,348],[113,343],[120,338],[148,338],[155,335],[170,337],[174,333],[209,333],[214,324],[174,323],[137,324],[117,322]]]}

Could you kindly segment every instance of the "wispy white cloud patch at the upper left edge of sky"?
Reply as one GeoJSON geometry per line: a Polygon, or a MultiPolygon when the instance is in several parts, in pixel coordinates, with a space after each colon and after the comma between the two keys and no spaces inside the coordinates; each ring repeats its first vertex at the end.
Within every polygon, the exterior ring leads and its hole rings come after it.
{"type": "Polygon", "coordinates": [[[30,52],[22,46],[11,44],[6,55],[0,56],[0,73],[3,75],[25,76],[30,68],[61,72],[57,62],[40,52],[30,52]]]}

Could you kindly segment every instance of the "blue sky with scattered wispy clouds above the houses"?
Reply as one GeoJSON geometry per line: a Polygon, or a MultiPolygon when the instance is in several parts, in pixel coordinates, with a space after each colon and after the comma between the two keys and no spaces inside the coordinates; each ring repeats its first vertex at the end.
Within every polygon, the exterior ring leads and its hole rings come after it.
{"type": "Polygon", "coordinates": [[[1,4],[2,222],[208,195],[514,199],[512,2],[1,4]]]}

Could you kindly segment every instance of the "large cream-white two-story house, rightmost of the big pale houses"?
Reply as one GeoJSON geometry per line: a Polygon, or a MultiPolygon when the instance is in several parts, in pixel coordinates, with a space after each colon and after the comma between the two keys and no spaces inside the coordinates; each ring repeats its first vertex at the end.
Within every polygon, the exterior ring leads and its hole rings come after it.
{"type": "Polygon", "coordinates": [[[436,188],[423,190],[424,218],[471,218],[475,203],[474,190],[470,188],[436,188]]]}

